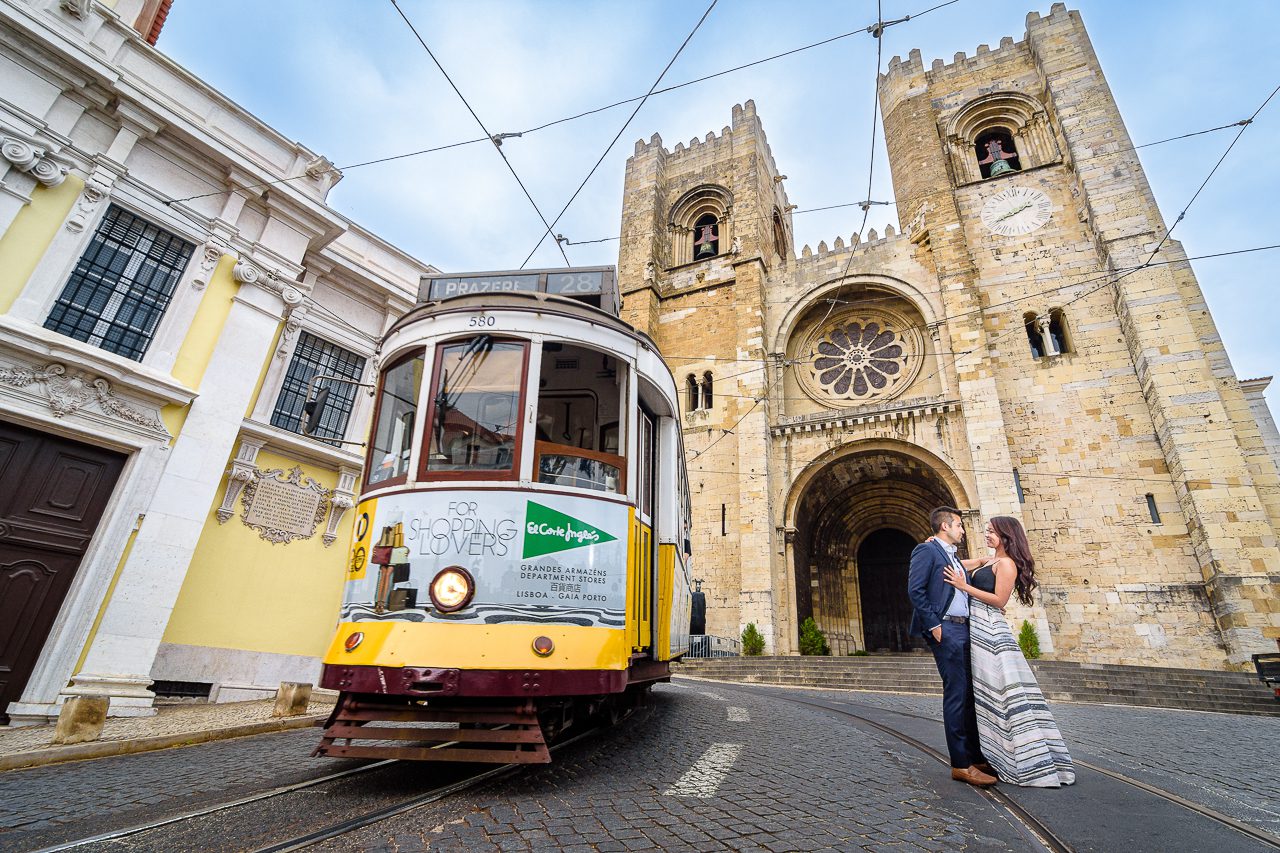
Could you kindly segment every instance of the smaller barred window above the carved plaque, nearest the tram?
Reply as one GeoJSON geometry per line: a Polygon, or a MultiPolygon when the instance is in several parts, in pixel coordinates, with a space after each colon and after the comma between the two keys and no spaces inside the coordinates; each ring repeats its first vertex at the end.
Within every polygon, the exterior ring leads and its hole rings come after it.
{"type": "MultiPolygon", "coordinates": [[[[346,377],[360,382],[364,371],[364,357],[314,334],[300,332],[298,345],[293,348],[293,359],[289,361],[289,370],[280,387],[280,396],[275,401],[275,411],[271,412],[271,425],[288,429],[292,433],[301,433],[302,403],[307,401],[307,391],[315,377],[346,377]]],[[[351,418],[351,409],[356,402],[358,388],[351,382],[325,382],[324,379],[317,383],[317,387],[326,384],[329,386],[329,402],[312,435],[321,439],[340,439],[347,433],[347,420],[351,418]]]]}

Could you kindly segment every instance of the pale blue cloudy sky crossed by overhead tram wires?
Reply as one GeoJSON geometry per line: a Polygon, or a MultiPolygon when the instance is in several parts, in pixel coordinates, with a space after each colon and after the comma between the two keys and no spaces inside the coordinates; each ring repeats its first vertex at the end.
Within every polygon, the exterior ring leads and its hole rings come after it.
{"type": "MultiPolygon", "coordinates": [[[[919,47],[934,58],[1021,40],[1030,10],[1048,0],[881,0],[881,69],[919,47]]],[[[399,0],[489,133],[548,122],[643,96],[676,56],[710,0],[399,0]]],[[[1280,86],[1280,3],[1078,0],[1120,114],[1135,145],[1252,115],[1280,86]]],[[[622,181],[636,140],[660,133],[671,149],[730,124],[751,99],[774,160],[800,210],[892,200],[874,111],[874,0],[718,0],[662,77],[659,88],[746,63],[828,44],[654,95],[635,104],[509,138],[502,151],[554,232],[573,242],[573,265],[617,263],[622,181]],[[874,128],[873,128],[874,124],[874,128]],[[623,129],[625,128],[625,129],[623,129]],[[872,146],[874,129],[874,152],[872,146]],[[611,240],[612,238],[612,240],[611,240]],[[588,241],[603,241],[590,242],[588,241]]],[[[390,0],[178,0],[157,47],[284,136],[338,167],[484,136],[390,0]]],[[[1190,256],[1280,243],[1280,95],[1243,133],[1174,231],[1190,256]]],[[[1239,128],[1143,149],[1139,155],[1167,224],[1239,128]]],[[[492,145],[472,143],[344,169],[329,195],[343,215],[442,270],[515,269],[545,227],[492,145]]],[[[845,241],[861,210],[794,218],[797,248],[845,241]]],[[[868,228],[900,227],[891,206],[868,228]]],[[[562,266],[548,238],[530,266],[562,266]]],[[[1280,369],[1276,309],[1280,250],[1193,261],[1242,379],[1280,369]]],[[[1280,416],[1280,380],[1267,389],[1280,416]]]]}

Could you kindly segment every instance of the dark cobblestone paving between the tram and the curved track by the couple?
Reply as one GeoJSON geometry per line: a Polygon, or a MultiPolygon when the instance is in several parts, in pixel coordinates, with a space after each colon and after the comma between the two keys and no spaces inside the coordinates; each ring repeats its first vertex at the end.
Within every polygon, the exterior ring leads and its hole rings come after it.
{"type": "Polygon", "coordinates": [[[950,780],[936,788],[937,767],[897,742],[767,697],[731,702],[750,721],[730,724],[730,702],[660,686],[623,729],[553,765],[315,849],[1024,849],[995,807],[950,780]],[[744,748],[712,795],[667,793],[727,742],[744,748]]]}

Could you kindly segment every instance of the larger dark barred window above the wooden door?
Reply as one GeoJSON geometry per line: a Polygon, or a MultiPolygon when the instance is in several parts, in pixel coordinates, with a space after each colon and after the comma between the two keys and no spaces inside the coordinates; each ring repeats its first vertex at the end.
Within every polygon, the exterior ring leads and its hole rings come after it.
{"type": "Polygon", "coordinates": [[[141,360],[193,250],[111,205],[45,328],[141,360]]]}

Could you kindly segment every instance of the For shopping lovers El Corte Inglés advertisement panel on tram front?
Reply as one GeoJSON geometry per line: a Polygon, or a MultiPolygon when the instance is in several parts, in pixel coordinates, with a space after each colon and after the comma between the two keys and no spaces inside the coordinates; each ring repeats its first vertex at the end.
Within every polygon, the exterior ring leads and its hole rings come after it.
{"type": "Polygon", "coordinates": [[[630,507],[563,494],[404,492],[356,508],[346,621],[530,622],[622,628],[630,507]],[[453,612],[430,585],[461,567],[453,612]]]}

